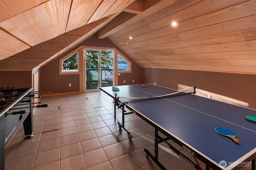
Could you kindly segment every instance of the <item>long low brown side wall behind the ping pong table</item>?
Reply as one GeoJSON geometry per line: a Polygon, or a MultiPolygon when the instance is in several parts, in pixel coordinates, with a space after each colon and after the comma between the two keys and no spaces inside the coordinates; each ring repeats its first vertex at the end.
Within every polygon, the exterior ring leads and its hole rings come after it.
{"type": "Polygon", "coordinates": [[[180,90],[182,86],[194,86],[197,95],[256,109],[256,75],[142,68],[142,83],[180,90]]]}

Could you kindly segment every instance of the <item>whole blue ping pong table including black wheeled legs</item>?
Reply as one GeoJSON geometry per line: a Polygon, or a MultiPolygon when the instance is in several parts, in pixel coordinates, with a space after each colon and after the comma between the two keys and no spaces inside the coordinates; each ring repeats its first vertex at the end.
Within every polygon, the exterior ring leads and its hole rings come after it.
{"type": "Polygon", "coordinates": [[[158,144],[164,143],[200,170],[195,161],[168,143],[168,140],[172,140],[194,158],[204,162],[206,169],[231,170],[251,166],[252,170],[255,170],[256,123],[246,120],[245,116],[256,116],[256,110],[194,94],[132,102],[129,102],[129,98],[121,97],[154,97],[177,92],[153,84],[144,85],[147,87],[143,88],[142,84],[116,86],[119,91],[113,91],[112,87],[100,89],[113,98],[115,119],[116,107],[122,109],[122,122],[118,121],[118,126],[124,128],[129,139],[132,139],[132,134],[124,125],[124,116],[127,114],[135,113],[154,127],[154,154],[144,149],[146,158],[152,158],[161,169],[165,169],[158,161],[158,144]],[[128,113],[125,109],[131,112],[128,113]],[[236,132],[241,144],[238,145],[229,137],[216,133],[215,127],[224,127],[236,132]],[[159,132],[166,137],[160,137],[159,132]]]}

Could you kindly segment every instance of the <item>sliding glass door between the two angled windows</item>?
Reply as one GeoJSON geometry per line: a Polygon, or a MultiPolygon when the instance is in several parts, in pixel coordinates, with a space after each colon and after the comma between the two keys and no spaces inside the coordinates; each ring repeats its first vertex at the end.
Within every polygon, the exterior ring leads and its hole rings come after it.
{"type": "Polygon", "coordinates": [[[113,86],[113,50],[85,50],[85,90],[113,86]]]}

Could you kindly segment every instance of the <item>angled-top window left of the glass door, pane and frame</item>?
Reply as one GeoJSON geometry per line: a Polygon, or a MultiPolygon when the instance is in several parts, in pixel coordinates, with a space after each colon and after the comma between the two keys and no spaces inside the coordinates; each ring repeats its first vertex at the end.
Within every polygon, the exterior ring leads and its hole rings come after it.
{"type": "Polygon", "coordinates": [[[60,60],[60,69],[62,73],[68,73],[68,74],[74,74],[78,73],[78,51],[76,53],[73,53],[72,55],[68,55],[67,57],[64,57],[60,60]]]}

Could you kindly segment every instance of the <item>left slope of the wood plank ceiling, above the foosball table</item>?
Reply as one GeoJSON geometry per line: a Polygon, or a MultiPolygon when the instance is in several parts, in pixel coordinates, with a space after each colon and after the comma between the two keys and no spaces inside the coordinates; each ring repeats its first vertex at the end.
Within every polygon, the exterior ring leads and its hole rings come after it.
{"type": "Polygon", "coordinates": [[[135,0],[1,0],[0,69],[32,70],[81,42],[135,0]]]}

